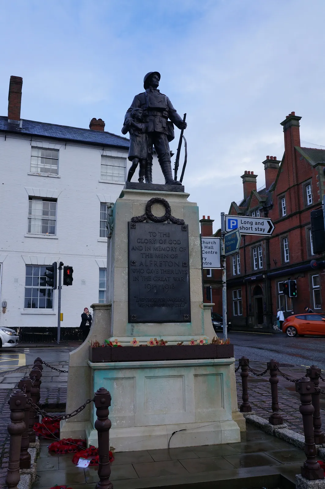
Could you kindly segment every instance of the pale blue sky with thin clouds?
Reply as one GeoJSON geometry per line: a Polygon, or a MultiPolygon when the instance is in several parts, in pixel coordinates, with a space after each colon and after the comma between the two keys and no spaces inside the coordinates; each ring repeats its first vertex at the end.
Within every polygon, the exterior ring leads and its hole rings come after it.
{"type": "Polygon", "coordinates": [[[22,118],[100,117],[122,135],[143,76],[159,71],[187,114],[185,190],[215,231],[244,171],[260,188],[261,162],[281,159],[288,113],[302,116],[302,146],[325,146],[324,16],[324,0],[0,0],[0,114],[22,76],[22,118]]]}

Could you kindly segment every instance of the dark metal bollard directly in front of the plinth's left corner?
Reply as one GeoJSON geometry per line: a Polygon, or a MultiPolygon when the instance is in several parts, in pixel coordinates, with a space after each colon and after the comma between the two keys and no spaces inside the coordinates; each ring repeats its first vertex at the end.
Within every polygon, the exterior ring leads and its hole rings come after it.
{"type": "Polygon", "coordinates": [[[112,426],[108,415],[109,406],[111,405],[111,394],[104,388],[100,387],[95,392],[95,407],[96,416],[95,429],[98,434],[98,477],[95,489],[113,489],[113,484],[110,481],[111,464],[109,460],[110,450],[110,428],[112,426]]]}

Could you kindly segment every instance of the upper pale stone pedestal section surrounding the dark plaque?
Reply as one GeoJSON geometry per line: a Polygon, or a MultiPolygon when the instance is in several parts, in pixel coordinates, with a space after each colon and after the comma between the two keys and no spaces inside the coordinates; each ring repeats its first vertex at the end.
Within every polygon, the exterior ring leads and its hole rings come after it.
{"type": "MultiPolygon", "coordinates": [[[[114,205],[114,228],[108,239],[107,252],[107,302],[112,304],[110,339],[118,338],[122,345],[130,345],[133,337],[156,336],[168,339],[168,344],[215,335],[211,323],[211,306],[203,305],[199,208],[189,202],[184,192],[157,192],[124,189],[114,205]],[[183,219],[188,226],[189,283],[191,321],[188,323],[130,323],[128,321],[128,222],[145,213],[148,200],[160,197],[168,201],[171,214],[183,219]]],[[[152,212],[163,216],[162,204],[154,204],[152,212]]],[[[165,224],[166,229],[168,224],[165,224]]]]}

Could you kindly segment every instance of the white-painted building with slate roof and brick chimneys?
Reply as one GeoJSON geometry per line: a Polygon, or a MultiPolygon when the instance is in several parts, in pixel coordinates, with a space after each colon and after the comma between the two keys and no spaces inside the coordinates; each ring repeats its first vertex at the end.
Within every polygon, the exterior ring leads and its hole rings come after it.
{"type": "Polygon", "coordinates": [[[106,203],[123,189],[129,140],[104,132],[101,119],[90,129],[21,119],[22,84],[10,78],[0,116],[0,326],[57,327],[58,291],[42,277],[61,261],[73,267],[61,327],[76,328],[85,307],[105,302],[106,203]]]}

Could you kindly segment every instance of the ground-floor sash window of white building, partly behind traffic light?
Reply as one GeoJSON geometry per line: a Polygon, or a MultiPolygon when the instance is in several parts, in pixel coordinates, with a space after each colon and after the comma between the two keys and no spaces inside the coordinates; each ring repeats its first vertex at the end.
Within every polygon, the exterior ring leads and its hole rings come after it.
{"type": "MultiPolygon", "coordinates": [[[[53,311],[54,310],[54,291],[51,287],[49,287],[46,283],[45,285],[41,285],[41,277],[44,277],[43,280],[45,280],[45,275],[42,274],[41,275],[41,269],[43,269],[43,273],[46,273],[46,267],[50,267],[51,264],[48,264],[48,265],[26,265],[25,266],[25,288],[24,288],[24,303],[23,303],[23,309],[24,311],[32,311],[32,310],[45,310],[45,311],[53,311]],[[27,275],[27,270],[28,268],[32,268],[31,272],[32,274],[31,275],[27,275]],[[34,273],[34,269],[35,269],[35,272],[36,272],[36,269],[39,269],[38,270],[38,273],[34,273]],[[31,277],[31,284],[27,284],[27,282],[29,282],[28,278],[31,277]],[[35,279],[38,279],[37,280],[37,284],[34,285],[34,283],[36,282],[35,279]],[[29,295],[26,296],[26,290],[31,290],[30,291],[30,297],[29,295]],[[46,290],[46,295],[45,297],[40,297],[40,290],[46,290]],[[33,293],[34,290],[37,290],[37,295],[35,295],[35,293],[33,293]],[[37,298],[37,307],[32,307],[33,305],[33,299],[36,299],[37,298]],[[26,300],[28,301],[30,299],[30,307],[27,306],[26,307],[26,300]],[[39,304],[40,304],[40,299],[44,299],[45,300],[45,307],[39,307],[39,304]],[[49,307],[46,307],[47,306],[47,301],[51,301],[51,304],[49,307]]],[[[28,270],[29,271],[29,270],[28,270]]],[[[27,303],[28,304],[28,303],[27,303]]],[[[35,304],[35,303],[34,303],[35,304]]]]}

